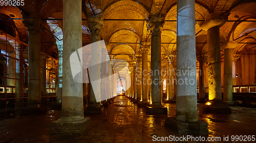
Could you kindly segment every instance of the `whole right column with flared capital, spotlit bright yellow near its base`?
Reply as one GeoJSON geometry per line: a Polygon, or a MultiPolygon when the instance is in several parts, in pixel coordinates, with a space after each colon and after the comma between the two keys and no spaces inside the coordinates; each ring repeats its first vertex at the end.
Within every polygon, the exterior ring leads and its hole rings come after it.
{"type": "Polygon", "coordinates": [[[220,26],[225,22],[225,18],[211,17],[200,25],[203,30],[207,30],[208,43],[209,101],[204,112],[231,113],[231,109],[222,101],[221,93],[220,26]]]}

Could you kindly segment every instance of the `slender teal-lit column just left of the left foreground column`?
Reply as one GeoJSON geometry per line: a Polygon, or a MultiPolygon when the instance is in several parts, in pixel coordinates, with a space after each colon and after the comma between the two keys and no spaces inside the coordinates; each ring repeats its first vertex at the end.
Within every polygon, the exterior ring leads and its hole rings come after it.
{"type": "Polygon", "coordinates": [[[62,100],[62,64],[63,64],[63,45],[57,45],[58,47],[58,87],[57,87],[57,103],[61,103],[62,100]]]}

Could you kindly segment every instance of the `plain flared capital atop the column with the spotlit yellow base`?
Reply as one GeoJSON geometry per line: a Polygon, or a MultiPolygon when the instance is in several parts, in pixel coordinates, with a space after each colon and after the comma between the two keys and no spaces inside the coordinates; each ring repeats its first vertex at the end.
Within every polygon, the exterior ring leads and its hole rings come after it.
{"type": "Polygon", "coordinates": [[[212,27],[221,27],[226,23],[226,21],[227,21],[227,17],[211,16],[209,19],[203,22],[200,25],[200,27],[204,31],[207,31],[209,28],[212,28],[212,27]]]}

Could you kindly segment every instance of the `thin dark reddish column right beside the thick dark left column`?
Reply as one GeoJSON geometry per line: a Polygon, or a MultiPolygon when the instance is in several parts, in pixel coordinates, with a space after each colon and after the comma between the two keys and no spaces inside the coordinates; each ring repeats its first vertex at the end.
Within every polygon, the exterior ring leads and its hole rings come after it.
{"type": "MultiPolygon", "coordinates": [[[[41,96],[46,96],[46,59],[48,56],[41,54],[41,96]]],[[[44,97],[47,102],[48,98],[44,97]]]]}

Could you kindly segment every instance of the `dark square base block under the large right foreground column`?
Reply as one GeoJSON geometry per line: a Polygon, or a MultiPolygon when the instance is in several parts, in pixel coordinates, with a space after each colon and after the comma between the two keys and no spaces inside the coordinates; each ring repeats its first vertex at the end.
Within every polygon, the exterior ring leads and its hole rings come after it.
{"type": "Polygon", "coordinates": [[[172,131],[178,134],[207,134],[208,123],[201,120],[197,122],[182,122],[173,117],[166,118],[165,127],[170,128],[172,131]]]}

